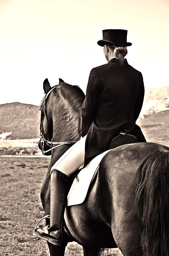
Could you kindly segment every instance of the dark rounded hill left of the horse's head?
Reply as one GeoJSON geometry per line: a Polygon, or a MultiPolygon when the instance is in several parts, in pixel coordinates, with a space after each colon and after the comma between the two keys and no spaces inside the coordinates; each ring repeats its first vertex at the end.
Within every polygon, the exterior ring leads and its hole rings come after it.
{"type": "Polygon", "coordinates": [[[12,102],[0,105],[0,134],[8,139],[34,139],[39,137],[40,111],[31,104],[12,102]]]}

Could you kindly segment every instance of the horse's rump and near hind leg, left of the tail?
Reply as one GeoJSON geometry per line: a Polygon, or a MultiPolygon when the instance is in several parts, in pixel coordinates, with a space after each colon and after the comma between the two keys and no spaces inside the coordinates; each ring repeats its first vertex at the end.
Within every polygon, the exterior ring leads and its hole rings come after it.
{"type": "Polygon", "coordinates": [[[108,152],[100,163],[100,179],[106,177],[111,195],[112,234],[125,256],[142,255],[135,204],[136,171],[157,150],[169,148],[157,143],[127,144],[108,152]]]}

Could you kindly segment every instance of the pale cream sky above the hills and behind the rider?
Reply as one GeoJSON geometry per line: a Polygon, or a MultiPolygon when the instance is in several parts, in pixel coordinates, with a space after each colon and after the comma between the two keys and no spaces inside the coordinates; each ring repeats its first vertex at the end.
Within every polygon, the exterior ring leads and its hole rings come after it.
{"type": "Polygon", "coordinates": [[[0,0],[0,104],[39,105],[46,78],[85,92],[107,63],[97,41],[110,28],[128,30],[126,59],[145,88],[169,86],[168,0],[0,0]]]}

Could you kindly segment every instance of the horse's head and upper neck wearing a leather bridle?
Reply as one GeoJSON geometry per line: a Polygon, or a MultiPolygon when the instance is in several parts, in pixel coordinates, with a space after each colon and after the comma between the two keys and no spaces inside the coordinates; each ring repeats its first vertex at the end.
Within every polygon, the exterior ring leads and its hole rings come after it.
{"type": "Polygon", "coordinates": [[[38,146],[44,155],[51,155],[50,148],[54,148],[56,142],[70,142],[80,138],[81,108],[85,95],[78,86],[67,84],[62,79],[53,87],[45,79],[43,89],[46,96],[40,106],[41,139],[38,146]]]}

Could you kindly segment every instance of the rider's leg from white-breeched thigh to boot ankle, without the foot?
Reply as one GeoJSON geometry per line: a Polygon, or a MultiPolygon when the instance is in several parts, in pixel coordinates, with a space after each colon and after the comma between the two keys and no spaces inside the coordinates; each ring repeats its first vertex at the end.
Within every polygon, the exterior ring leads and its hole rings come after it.
{"type": "Polygon", "coordinates": [[[62,229],[69,192],[67,191],[68,177],[84,164],[85,139],[86,136],[69,148],[51,168],[50,228],[59,226],[62,229]]]}

